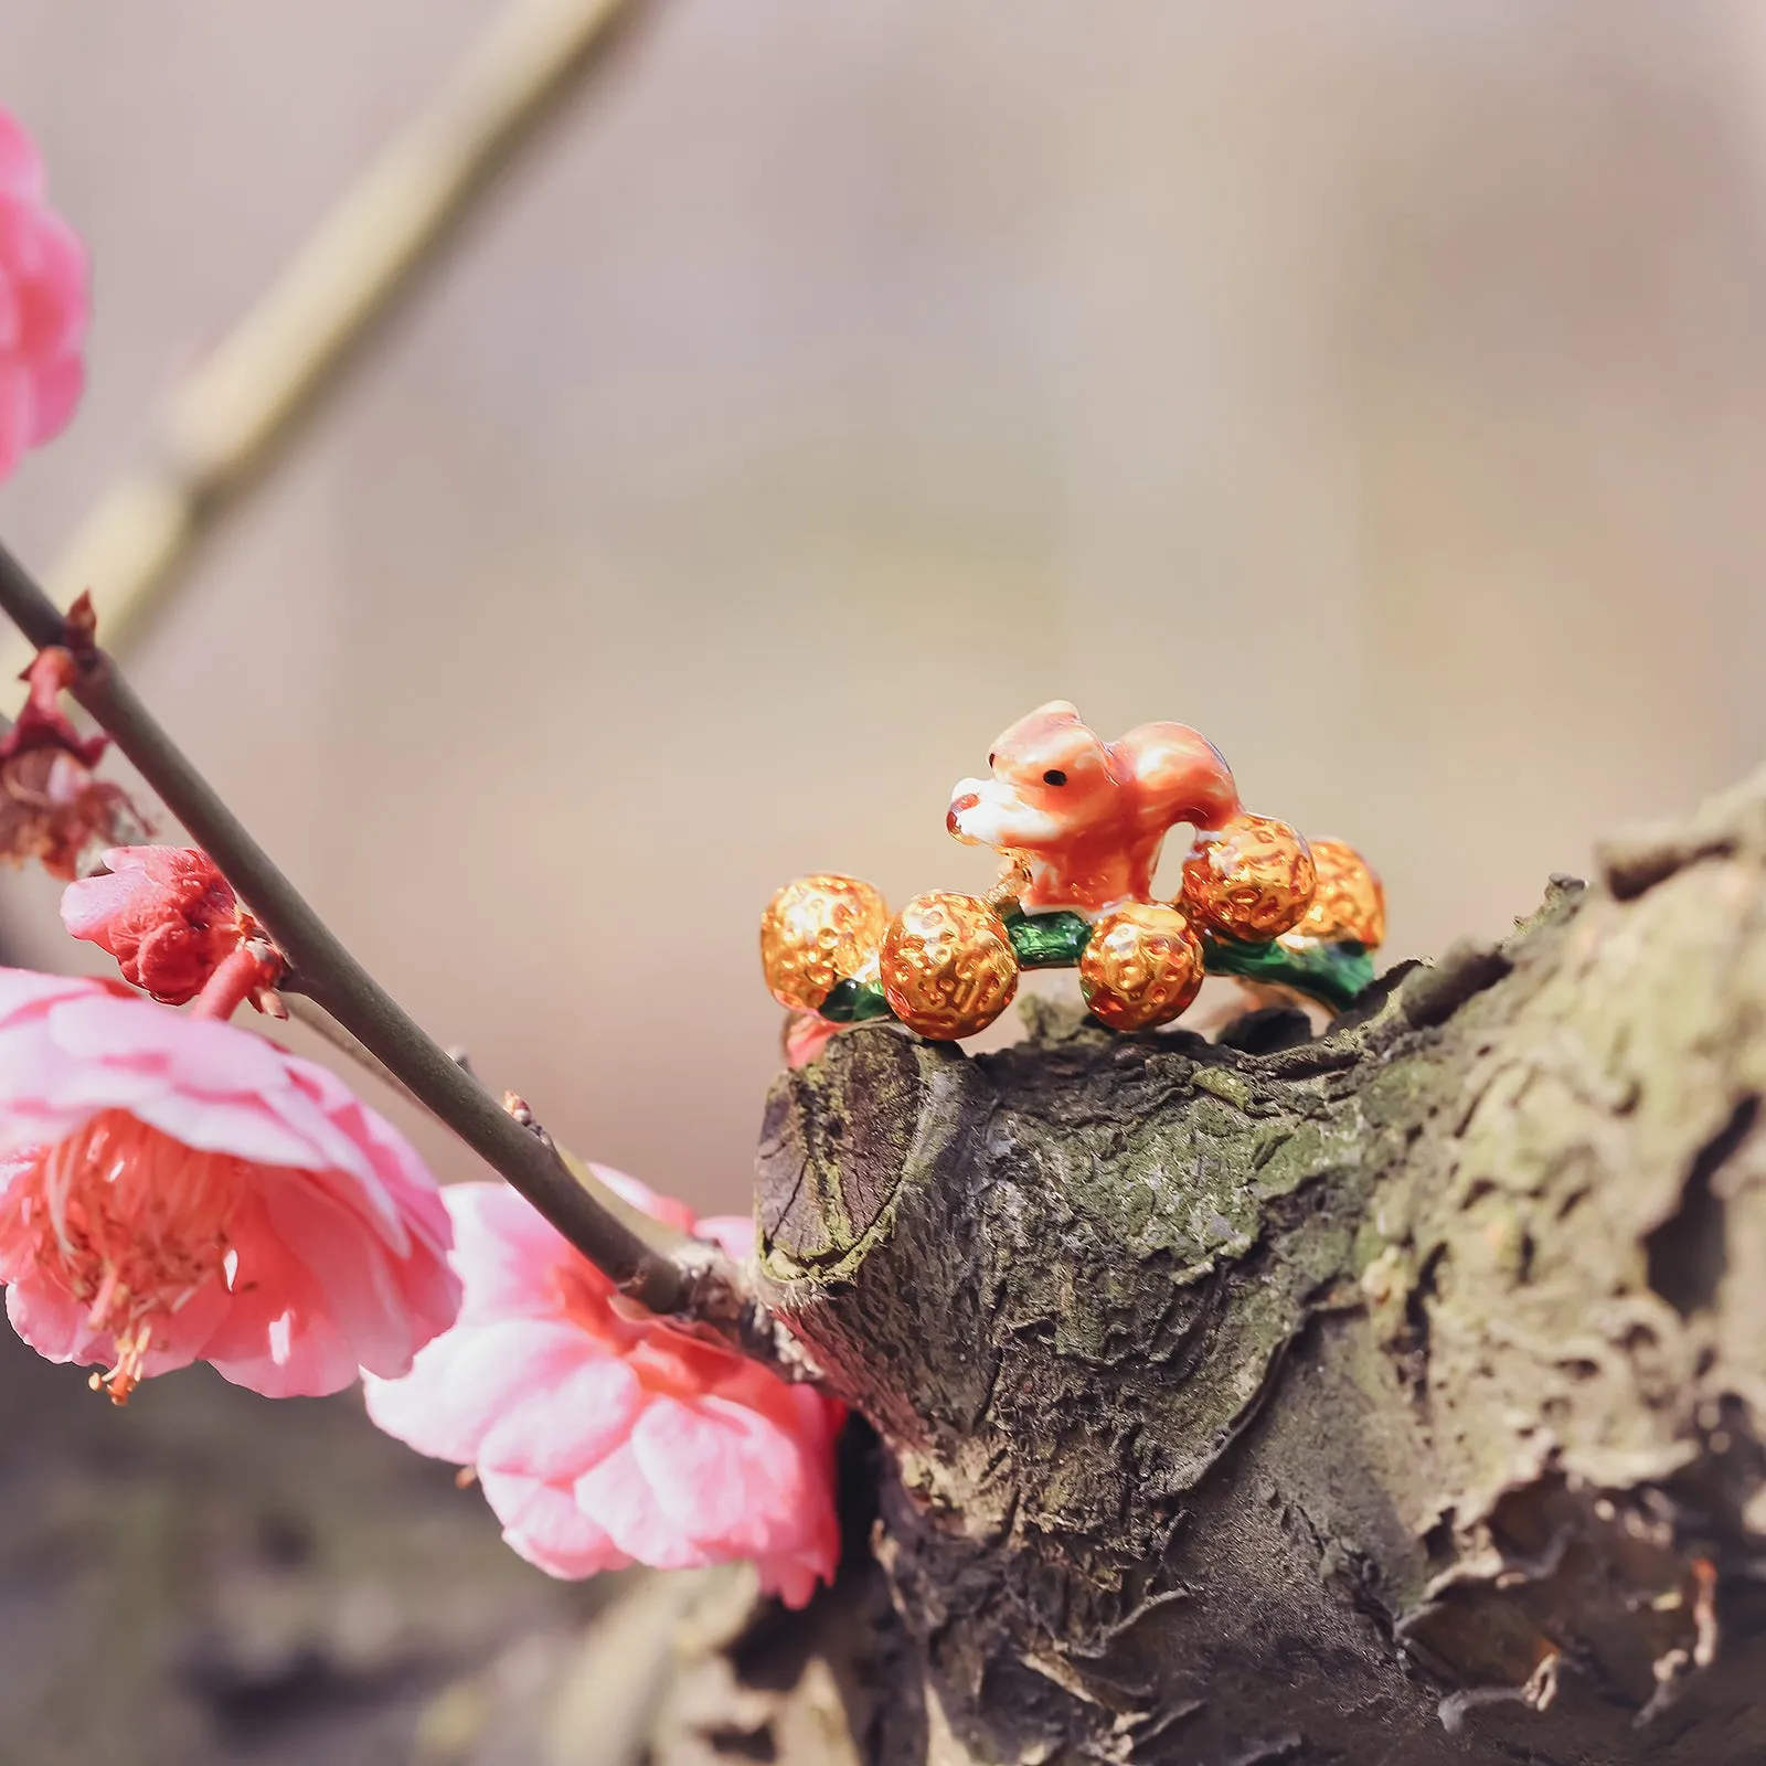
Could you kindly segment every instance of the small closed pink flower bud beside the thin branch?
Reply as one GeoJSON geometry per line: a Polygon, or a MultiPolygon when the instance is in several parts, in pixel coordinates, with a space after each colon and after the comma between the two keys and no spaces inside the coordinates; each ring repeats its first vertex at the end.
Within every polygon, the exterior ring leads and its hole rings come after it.
{"type": "Polygon", "coordinates": [[[256,932],[198,848],[113,846],[106,871],[62,890],[62,925],[108,950],[122,978],[166,1005],[194,1000],[256,932]]]}

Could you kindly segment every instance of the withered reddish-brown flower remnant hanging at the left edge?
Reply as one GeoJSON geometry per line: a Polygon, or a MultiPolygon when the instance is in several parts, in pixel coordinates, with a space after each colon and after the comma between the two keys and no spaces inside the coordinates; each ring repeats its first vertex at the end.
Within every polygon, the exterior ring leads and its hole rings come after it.
{"type": "Polygon", "coordinates": [[[67,881],[104,848],[147,834],[129,793],[94,774],[109,736],[81,736],[62,710],[60,696],[76,668],[60,646],[39,652],[18,722],[0,735],[0,858],[41,864],[67,881]]]}

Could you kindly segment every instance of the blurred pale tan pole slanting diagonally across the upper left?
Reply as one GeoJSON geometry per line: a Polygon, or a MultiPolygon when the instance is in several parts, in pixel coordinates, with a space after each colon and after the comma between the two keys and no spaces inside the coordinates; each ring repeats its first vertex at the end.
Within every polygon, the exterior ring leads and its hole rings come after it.
{"type": "MultiPolygon", "coordinates": [[[[200,540],[288,445],[355,346],[438,258],[491,177],[600,65],[643,0],[510,0],[447,83],[344,191],[263,297],[173,392],[148,459],[74,532],[48,586],[92,590],[125,650],[200,540]]],[[[0,680],[30,646],[0,641],[0,680]]]]}

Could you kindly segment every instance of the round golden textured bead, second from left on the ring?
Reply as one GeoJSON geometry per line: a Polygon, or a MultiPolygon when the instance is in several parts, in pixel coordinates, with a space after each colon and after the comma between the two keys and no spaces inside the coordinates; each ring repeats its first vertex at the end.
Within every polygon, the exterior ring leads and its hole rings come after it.
{"type": "Polygon", "coordinates": [[[883,940],[878,978],[890,1010],[922,1037],[952,1042],[985,1030],[1017,992],[1017,952],[978,895],[915,895],[883,940]]]}

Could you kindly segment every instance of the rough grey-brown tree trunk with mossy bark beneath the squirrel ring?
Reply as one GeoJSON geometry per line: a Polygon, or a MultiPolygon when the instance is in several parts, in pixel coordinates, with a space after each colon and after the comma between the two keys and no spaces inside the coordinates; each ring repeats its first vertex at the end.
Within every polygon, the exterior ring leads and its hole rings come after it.
{"type": "Polygon", "coordinates": [[[862,1761],[1757,1766],[1762,1091],[1766,775],[1316,1038],[849,1031],[759,1217],[853,1545],[712,1653],[862,1761]]]}

